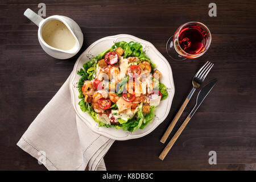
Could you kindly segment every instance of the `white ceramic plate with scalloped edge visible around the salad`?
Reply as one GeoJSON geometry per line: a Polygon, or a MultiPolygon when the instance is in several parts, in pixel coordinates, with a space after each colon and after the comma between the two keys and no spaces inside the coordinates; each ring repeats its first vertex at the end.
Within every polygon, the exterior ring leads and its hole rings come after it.
{"type": "Polygon", "coordinates": [[[144,135],[149,134],[153,131],[160,123],[166,119],[172,104],[172,98],[174,97],[174,80],[172,78],[172,70],[168,61],[164,58],[164,56],[151,44],[146,40],[139,39],[132,35],[120,34],[115,36],[108,36],[97,40],[92,45],[90,45],[77,59],[75,67],[72,72],[71,80],[69,82],[69,89],[71,92],[71,100],[74,106],[74,109],[77,115],[86,123],[90,129],[94,132],[104,135],[105,137],[109,137],[115,140],[128,140],[134,138],[140,138],[144,135]],[[79,82],[79,78],[81,76],[77,75],[77,71],[82,68],[82,65],[92,59],[92,57],[98,55],[98,53],[102,51],[106,51],[110,47],[113,46],[114,43],[126,41],[126,42],[138,42],[143,46],[143,51],[146,52],[146,55],[152,60],[153,63],[156,64],[156,69],[158,69],[162,76],[160,77],[160,82],[166,85],[168,91],[168,98],[160,102],[160,105],[156,107],[155,110],[155,118],[149,123],[144,129],[138,129],[131,133],[130,131],[123,131],[122,129],[115,129],[114,127],[99,127],[98,123],[93,120],[92,117],[88,113],[84,113],[81,111],[80,106],[78,105],[79,91],[77,89],[77,83],[79,82]]]}

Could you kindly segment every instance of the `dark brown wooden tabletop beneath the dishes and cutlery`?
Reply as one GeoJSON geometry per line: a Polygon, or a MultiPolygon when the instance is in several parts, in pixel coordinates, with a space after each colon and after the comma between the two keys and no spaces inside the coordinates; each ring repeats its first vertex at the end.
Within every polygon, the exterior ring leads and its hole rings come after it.
{"type": "MultiPolygon", "coordinates": [[[[175,96],[167,119],[152,133],[114,142],[104,158],[109,170],[256,169],[256,2],[214,1],[217,16],[210,17],[210,1],[45,0],[47,16],[69,16],[84,33],[81,51],[68,60],[48,56],[39,45],[38,27],[23,16],[27,8],[37,12],[40,2],[12,0],[0,5],[0,169],[46,169],[16,142],[67,79],[77,57],[94,41],[116,34],[154,44],[171,65],[175,96]],[[209,27],[212,44],[197,59],[172,61],[166,41],[180,24],[192,20],[209,27]],[[215,64],[206,82],[218,78],[217,85],[161,161],[158,155],[165,145],[159,140],[206,60],[215,64]],[[212,150],[217,152],[216,165],[208,163],[212,150]]],[[[196,94],[179,125],[195,98],[196,94]]]]}

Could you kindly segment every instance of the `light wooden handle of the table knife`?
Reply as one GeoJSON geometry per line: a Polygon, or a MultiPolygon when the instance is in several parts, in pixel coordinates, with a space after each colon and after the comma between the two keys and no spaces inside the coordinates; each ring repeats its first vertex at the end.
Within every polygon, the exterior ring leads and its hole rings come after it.
{"type": "Polygon", "coordinates": [[[189,116],[185,119],[183,124],[180,126],[179,130],[177,130],[177,132],[175,133],[174,137],[172,137],[171,141],[167,144],[166,148],[164,148],[162,153],[159,155],[159,159],[164,160],[164,158],[166,157],[166,155],[168,154],[168,152],[171,150],[172,146],[176,142],[177,138],[179,138],[181,132],[184,130],[185,126],[187,126],[190,119],[191,118],[189,116]]]}

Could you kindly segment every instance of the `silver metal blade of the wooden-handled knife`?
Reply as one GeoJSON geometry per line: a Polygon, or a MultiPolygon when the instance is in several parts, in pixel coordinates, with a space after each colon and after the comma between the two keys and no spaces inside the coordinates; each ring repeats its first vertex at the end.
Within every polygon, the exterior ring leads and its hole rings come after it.
{"type": "Polygon", "coordinates": [[[200,92],[197,94],[196,105],[192,109],[191,113],[189,113],[188,115],[189,118],[193,117],[193,115],[196,113],[196,110],[202,104],[205,97],[207,97],[208,93],[210,92],[210,90],[212,90],[213,86],[216,84],[217,81],[217,79],[210,81],[207,85],[203,87],[203,89],[200,90],[200,92]]]}

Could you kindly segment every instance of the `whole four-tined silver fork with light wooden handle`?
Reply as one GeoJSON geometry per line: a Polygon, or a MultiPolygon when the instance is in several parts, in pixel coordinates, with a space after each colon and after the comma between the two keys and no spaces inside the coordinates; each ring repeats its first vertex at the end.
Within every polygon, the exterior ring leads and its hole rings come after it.
{"type": "Polygon", "coordinates": [[[168,129],[164,133],[163,137],[160,139],[160,142],[162,142],[162,143],[166,142],[166,140],[169,137],[172,129],[174,129],[174,126],[176,125],[177,121],[179,120],[180,115],[183,113],[183,111],[184,111],[185,107],[187,106],[190,98],[193,96],[193,93],[203,83],[205,77],[208,75],[208,73],[209,73],[210,69],[212,69],[213,65],[214,65],[213,63],[210,63],[209,61],[207,61],[207,63],[205,63],[203,65],[203,67],[201,67],[199,69],[199,71],[196,73],[196,75],[193,77],[193,80],[192,80],[193,88],[192,88],[191,92],[188,94],[188,97],[183,102],[183,105],[180,107],[179,111],[175,115],[174,120],[172,120],[171,124],[168,126],[168,129]]]}

